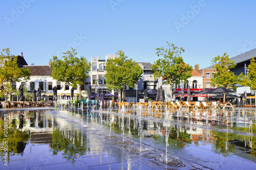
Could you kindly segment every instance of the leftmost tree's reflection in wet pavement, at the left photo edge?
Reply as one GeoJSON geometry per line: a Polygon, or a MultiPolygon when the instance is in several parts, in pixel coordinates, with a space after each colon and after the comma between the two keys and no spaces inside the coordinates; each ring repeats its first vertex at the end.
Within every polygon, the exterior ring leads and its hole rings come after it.
{"type": "MultiPolygon", "coordinates": [[[[27,141],[29,139],[29,131],[21,131],[17,129],[16,127],[23,127],[23,125],[20,125],[16,119],[13,119],[11,124],[8,125],[8,136],[5,136],[4,131],[4,119],[0,120],[1,122],[1,129],[0,129],[0,143],[4,143],[5,140],[8,140],[8,160],[10,156],[23,153],[27,141]],[[8,139],[6,139],[8,138],[8,139]]],[[[3,159],[3,156],[5,156],[4,146],[1,147],[0,150],[0,156],[1,159],[3,159]]]]}

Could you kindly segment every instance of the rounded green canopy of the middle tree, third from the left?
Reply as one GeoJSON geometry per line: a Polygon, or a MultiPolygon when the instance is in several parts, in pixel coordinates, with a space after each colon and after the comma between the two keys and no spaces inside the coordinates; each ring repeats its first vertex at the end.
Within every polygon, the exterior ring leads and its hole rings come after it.
{"type": "Polygon", "coordinates": [[[142,76],[141,66],[132,59],[127,59],[122,51],[118,51],[116,54],[116,58],[106,62],[106,87],[121,89],[124,84],[133,87],[142,76]]]}

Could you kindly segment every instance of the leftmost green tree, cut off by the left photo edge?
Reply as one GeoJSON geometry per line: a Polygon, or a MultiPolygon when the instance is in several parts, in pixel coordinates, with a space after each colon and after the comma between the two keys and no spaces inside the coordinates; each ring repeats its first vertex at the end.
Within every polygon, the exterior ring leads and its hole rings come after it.
{"type": "Polygon", "coordinates": [[[0,95],[6,96],[7,100],[10,98],[11,93],[16,91],[16,89],[11,88],[12,83],[22,80],[28,81],[31,71],[29,68],[18,66],[17,57],[10,54],[10,48],[3,49],[1,52],[0,66],[0,80],[2,83],[6,83],[6,88],[2,90],[0,95]]]}

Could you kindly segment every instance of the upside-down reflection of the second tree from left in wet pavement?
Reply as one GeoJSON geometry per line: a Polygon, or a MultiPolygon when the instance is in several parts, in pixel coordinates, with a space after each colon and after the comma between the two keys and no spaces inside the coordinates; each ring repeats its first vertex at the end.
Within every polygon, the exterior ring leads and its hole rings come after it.
{"type": "Polygon", "coordinates": [[[77,157],[77,153],[82,156],[84,152],[87,151],[87,141],[83,141],[87,139],[87,136],[86,134],[82,134],[81,131],[68,129],[59,131],[54,129],[51,135],[52,143],[50,144],[50,147],[53,155],[57,155],[61,152],[61,155],[64,156],[63,158],[73,162],[77,157]],[[66,139],[66,142],[64,143],[60,142],[63,141],[62,136],[66,139]]]}

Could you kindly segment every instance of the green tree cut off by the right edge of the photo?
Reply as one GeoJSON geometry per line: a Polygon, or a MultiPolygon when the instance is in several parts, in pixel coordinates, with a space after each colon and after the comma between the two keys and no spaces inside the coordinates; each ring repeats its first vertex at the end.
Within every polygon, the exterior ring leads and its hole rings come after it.
{"type": "MultiPolygon", "coordinates": [[[[250,87],[252,90],[256,90],[256,62],[254,57],[251,58],[250,64],[248,65],[249,72],[240,79],[240,83],[243,86],[250,87]]],[[[255,93],[256,99],[256,93],[255,93]]],[[[256,107],[256,101],[255,101],[256,107]]]]}

